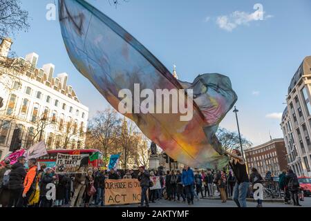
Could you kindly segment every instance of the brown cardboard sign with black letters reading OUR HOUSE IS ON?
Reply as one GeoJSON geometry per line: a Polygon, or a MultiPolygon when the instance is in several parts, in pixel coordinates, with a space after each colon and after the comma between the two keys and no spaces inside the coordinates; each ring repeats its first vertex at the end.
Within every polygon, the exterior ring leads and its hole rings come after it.
{"type": "Polygon", "coordinates": [[[140,203],[141,192],[137,179],[106,180],[105,205],[140,203]]]}

